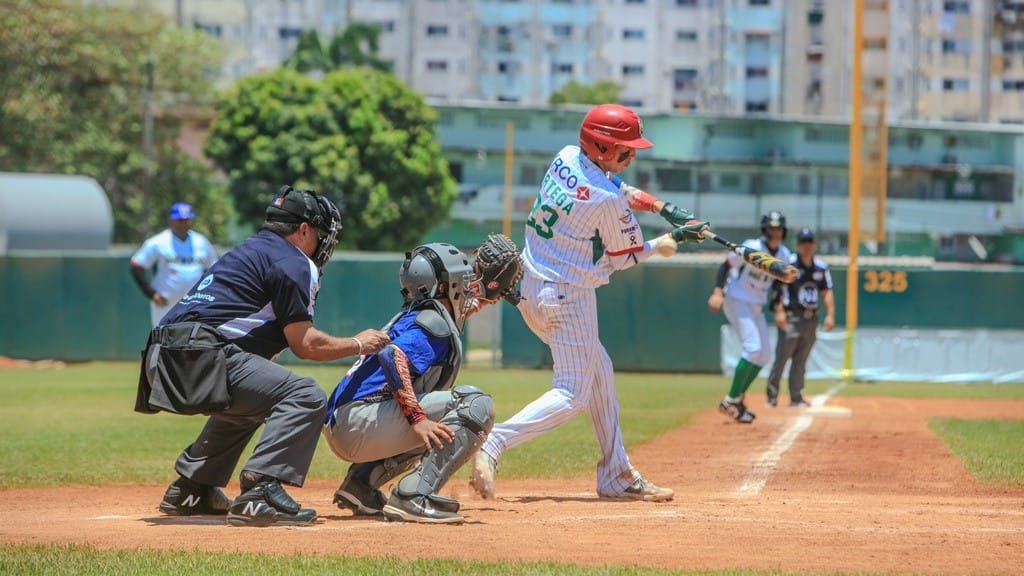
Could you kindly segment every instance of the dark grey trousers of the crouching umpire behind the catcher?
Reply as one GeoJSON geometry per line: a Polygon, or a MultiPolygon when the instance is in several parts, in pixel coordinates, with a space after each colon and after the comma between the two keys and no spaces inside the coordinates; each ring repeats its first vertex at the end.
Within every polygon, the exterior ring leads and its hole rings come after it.
{"type": "Polygon", "coordinates": [[[231,405],[206,421],[174,469],[200,484],[225,486],[249,441],[266,424],[243,469],[302,486],[327,414],[327,396],[312,378],[269,360],[224,347],[231,405]]]}

